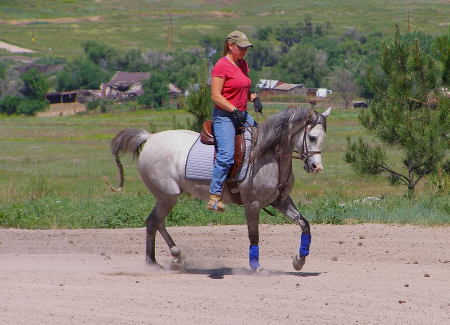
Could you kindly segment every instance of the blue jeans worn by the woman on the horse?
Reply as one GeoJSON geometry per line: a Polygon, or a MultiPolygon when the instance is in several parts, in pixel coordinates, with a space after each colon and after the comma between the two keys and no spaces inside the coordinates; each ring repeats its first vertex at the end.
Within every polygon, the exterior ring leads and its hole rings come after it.
{"type": "MultiPolygon", "coordinates": [[[[256,122],[244,111],[245,118],[251,126],[256,126],[256,122]]],[[[209,193],[220,195],[222,185],[228,175],[229,169],[234,163],[234,136],[236,135],[236,117],[233,113],[218,109],[212,110],[212,126],[214,128],[214,139],[217,143],[217,156],[212,168],[212,179],[209,193]]],[[[248,125],[246,125],[248,127],[248,125]]]]}

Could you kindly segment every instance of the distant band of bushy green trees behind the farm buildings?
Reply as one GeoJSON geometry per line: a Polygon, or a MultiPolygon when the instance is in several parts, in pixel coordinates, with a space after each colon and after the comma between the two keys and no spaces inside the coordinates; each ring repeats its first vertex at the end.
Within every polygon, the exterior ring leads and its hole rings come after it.
{"type": "MultiPolygon", "coordinates": [[[[329,22],[314,23],[311,16],[295,23],[285,21],[273,28],[258,27],[249,35],[254,47],[245,57],[250,67],[252,91],[257,91],[259,79],[270,78],[307,87],[330,88],[341,94],[347,107],[355,97],[370,101],[374,93],[367,82],[366,67],[370,65],[374,74],[383,74],[379,64],[384,39],[382,32],[363,33],[349,29],[335,35],[332,31],[329,22]],[[275,41],[279,44],[278,49],[274,47],[275,41]]],[[[435,37],[420,31],[400,33],[399,37],[409,45],[418,39],[421,48],[434,55],[431,46],[435,37]]],[[[221,56],[223,41],[223,37],[204,35],[199,39],[198,48],[190,50],[130,48],[124,53],[102,42],[86,41],[82,44],[84,56],[65,62],[56,74],[54,88],[57,91],[98,89],[117,70],[145,71],[150,72],[153,81],[143,82],[146,95],[140,102],[142,105],[152,102],[157,106],[166,96],[166,84],[172,82],[186,89],[195,79],[203,58],[214,64],[221,56]]],[[[0,65],[0,81],[4,83],[1,71],[0,65]]],[[[18,102],[17,98],[22,98],[23,92],[18,88],[12,95],[18,102]]],[[[8,111],[11,109],[3,110],[8,111]]],[[[14,112],[23,113],[24,110],[14,112]]]]}

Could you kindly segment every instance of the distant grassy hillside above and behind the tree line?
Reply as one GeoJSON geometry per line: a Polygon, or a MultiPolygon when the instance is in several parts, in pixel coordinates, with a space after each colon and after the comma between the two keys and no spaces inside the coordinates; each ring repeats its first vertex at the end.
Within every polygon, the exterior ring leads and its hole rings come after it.
{"type": "MultiPolygon", "coordinates": [[[[258,27],[303,22],[331,23],[336,34],[349,28],[361,32],[394,32],[395,22],[432,35],[448,31],[450,6],[443,0],[376,1],[200,1],[200,0],[3,0],[0,1],[0,40],[31,48],[38,55],[82,55],[86,40],[125,51],[167,48],[168,13],[172,14],[173,48],[199,47],[201,35],[224,37],[240,29],[252,35],[258,27]],[[33,24],[34,21],[34,24],[33,24]],[[34,43],[31,38],[34,26],[34,43]],[[51,50],[50,50],[51,49],[51,50]]],[[[279,43],[271,39],[275,48],[279,43]]],[[[0,54],[6,54],[1,51],[0,54]]]]}

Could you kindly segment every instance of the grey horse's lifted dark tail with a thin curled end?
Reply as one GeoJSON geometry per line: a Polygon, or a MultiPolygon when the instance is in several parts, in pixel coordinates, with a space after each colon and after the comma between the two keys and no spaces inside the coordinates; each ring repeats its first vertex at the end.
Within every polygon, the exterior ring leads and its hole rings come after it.
{"type": "Polygon", "coordinates": [[[125,177],[123,176],[123,166],[120,162],[120,154],[129,153],[133,156],[133,160],[139,158],[139,153],[142,144],[147,141],[150,134],[144,130],[124,129],[117,133],[117,135],[111,140],[111,153],[115,158],[115,163],[119,169],[120,185],[117,189],[114,189],[104,177],[109,189],[113,192],[118,192],[122,189],[125,177]]]}

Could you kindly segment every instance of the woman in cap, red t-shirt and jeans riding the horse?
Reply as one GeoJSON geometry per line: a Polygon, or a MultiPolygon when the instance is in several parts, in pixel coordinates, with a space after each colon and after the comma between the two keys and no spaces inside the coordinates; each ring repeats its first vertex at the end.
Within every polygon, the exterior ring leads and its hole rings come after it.
{"type": "Polygon", "coordinates": [[[256,112],[262,110],[261,102],[249,92],[251,81],[248,65],[243,59],[248,47],[253,45],[238,30],[228,34],[223,45],[223,57],[212,69],[211,97],[215,103],[212,110],[212,128],[217,144],[217,156],[212,169],[208,210],[223,212],[225,204],[222,186],[234,162],[234,136],[236,128],[256,122],[247,112],[247,100],[254,103],[256,112]]]}

